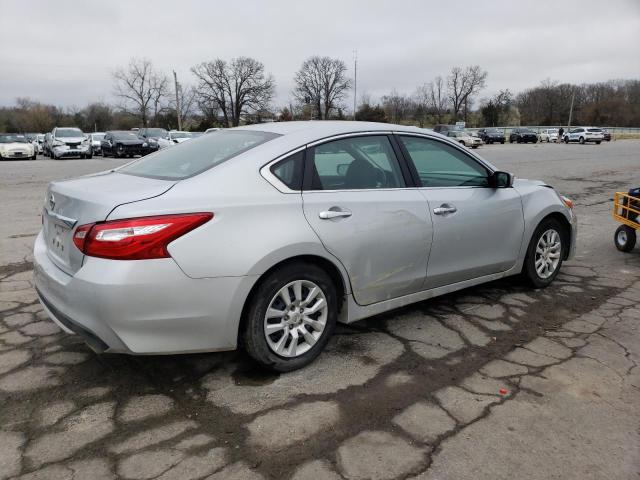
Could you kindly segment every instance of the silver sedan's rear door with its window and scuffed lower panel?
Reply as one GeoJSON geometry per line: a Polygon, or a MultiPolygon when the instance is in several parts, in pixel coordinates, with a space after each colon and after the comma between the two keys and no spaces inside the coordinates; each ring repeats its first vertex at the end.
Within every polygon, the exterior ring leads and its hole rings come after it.
{"type": "Polygon", "coordinates": [[[387,135],[345,136],[307,149],[305,217],[344,265],[361,305],[424,283],[431,217],[409,181],[387,135]]]}

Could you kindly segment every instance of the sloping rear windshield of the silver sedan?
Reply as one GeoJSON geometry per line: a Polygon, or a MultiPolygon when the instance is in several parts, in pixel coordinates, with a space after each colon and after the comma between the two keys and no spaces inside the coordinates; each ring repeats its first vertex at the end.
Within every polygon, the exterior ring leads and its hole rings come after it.
{"type": "Polygon", "coordinates": [[[162,180],[182,180],[279,136],[253,130],[222,130],[163,148],[126,165],[118,172],[162,180]]]}

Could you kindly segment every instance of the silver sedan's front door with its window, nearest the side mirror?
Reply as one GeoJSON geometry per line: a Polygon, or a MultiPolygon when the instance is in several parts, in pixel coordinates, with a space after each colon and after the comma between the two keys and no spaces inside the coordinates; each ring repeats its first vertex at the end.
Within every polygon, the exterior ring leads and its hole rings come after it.
{"type": "Polygon", "coordinates": [[[489,169],[440,140],[399,135],[429,203],[433,243],[425,288],[503,272],[516,263],[524,218],[513,188],[489,187],[489,169]]]}

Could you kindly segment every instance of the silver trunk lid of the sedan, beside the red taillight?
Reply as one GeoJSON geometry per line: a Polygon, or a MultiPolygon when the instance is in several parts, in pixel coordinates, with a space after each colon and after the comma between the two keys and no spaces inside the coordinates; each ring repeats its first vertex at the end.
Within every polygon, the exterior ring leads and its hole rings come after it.
{"type": "Polygon", "coordinates": [[[73,275],[84,258],[73,243],[77,227],[104,221],[114,208],[157,197],[175,184],[117,172],[50,183],[42,212],[47,255],[61,270],[73,275]]]}

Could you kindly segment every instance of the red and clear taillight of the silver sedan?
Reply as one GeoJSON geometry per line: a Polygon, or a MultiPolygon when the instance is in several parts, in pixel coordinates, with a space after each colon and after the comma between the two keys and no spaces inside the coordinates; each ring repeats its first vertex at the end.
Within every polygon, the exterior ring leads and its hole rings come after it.
{"type": "Polygon", "coordinates": [[[167,258],[176,238],[213,218],[213,213],[128,218],[81,225],[73,243],[85,255],[112,260],[167,258]]]}

